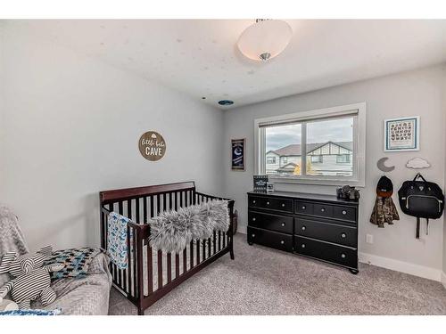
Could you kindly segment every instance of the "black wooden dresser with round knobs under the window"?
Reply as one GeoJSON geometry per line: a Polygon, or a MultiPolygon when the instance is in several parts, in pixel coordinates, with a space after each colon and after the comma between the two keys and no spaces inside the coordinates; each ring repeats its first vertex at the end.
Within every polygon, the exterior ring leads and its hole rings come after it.
{"type": "Polygon", "coordinates": [[[359,202],[335,196],[248,192],[248,243],[312,257],[358,273],[359,202]]]}

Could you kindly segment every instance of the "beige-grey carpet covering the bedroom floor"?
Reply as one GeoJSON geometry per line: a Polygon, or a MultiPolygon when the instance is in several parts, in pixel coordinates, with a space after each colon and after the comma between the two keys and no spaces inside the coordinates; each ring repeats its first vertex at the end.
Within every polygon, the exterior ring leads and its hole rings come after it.
{"type": "MultiPolygon", "coordinates": [[[[436,281],[360,264],[359,274],[235,236],[225,255],[156,302],[145,314],[446,314],[436,281]]],[[[111,289],[110,314],[136,314],[111,289]]]]}

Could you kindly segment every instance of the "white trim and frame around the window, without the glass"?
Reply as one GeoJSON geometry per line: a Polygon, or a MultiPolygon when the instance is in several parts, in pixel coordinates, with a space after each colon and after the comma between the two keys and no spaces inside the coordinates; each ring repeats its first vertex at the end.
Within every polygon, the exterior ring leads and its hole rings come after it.
{"type": "MultiPolygon", "coordinates": [[[[261,143],[261,132],[265,132],[265,127],[286,122],[298,122],[304,120],[314,120],[317,118],[329,118],[329,117],[341,117],[352,113],[357,113],[358,117],[354,118],[355,124],[353,126],[353,136],[356,140],[353,140],[353,156],[358,157],[356,161],[353,161],[353,176],[310,176],[310,175],[268,175],[269,180],[273,183],[301,183],[301,184],[320,184],[320,185],[343,185],[349,184],[358,187],[366,186],[366,102],[353,103],[343,106],[324,108],[318,110],[300,111],[291,114],[285,114],[280,116],[273,116],[268,118],[256,118],[254,119],[254,171],[256,175],[260,174],[261,170],[264,170],[265,159],[260,159],[260,152],[265,151],[265,143],[261,143]],[[355,133],[356,132],[356,133],[355,133]],[[356,162],[356,164],[355,164],[356,162]],[[263,167],[263,168],[262,168],[263,167]]],[[[302,127],[302,137],[306,136],[304,133],[305,127],[302,127]]],[[[264,134],[264,133],[263,133],[264,134]]],[[[263,135],[264,138],[264,135],[263,135]]],[[[305,156],[306,147],[302,145],[301,156],[305,156]]],[[[301,170],[306,168],[305,159],[301,159],[301,170]]]]}

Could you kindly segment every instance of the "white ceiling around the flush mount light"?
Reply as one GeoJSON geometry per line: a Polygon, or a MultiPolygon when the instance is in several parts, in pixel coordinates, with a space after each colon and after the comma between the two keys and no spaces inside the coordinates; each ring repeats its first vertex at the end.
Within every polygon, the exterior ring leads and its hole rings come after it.
{"type": "Polygon", "coordinates": [[[237,107],[446,61],[446,20],[286,21],[293,38],[268,63],[245,59],[236,47],[253,20],[21,20],[6,25],[19,25],[213,106],[220,99],[234,100],[237,107]]]}

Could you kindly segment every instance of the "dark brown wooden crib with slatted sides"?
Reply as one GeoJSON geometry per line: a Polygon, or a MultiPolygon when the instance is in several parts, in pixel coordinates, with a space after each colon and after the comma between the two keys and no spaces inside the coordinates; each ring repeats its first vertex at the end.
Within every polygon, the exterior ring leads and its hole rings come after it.
{"type": "Polygon", "coordinates": [[[234,259],[234,200],[228,200],[230,225],[227,232],[213,232],[208,240],[193,240],[179,254],[154,250],[149,242],[147,221],[168,209],[178,209],[208,200],[227,200],[195,190],[194,182],[100,191],[101,247],[107,248],[107,218],[111,211],[130,218],[128,224],[128,268],[110,265],[113,286],[136,305],[138,314],[189,277],[226,253],[234,259]]]}

